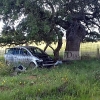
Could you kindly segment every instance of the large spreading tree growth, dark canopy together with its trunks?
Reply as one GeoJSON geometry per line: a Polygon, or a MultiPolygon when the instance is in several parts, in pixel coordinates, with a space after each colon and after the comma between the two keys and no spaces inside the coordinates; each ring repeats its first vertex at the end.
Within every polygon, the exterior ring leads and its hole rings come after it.
{"type": "Polygon", "coordinates": [[[66,30],[65,51],[79,51],[83,40],[97,41],[100,37],[93,32],[93,28],[100,28],[99,0],[1,0],[0,14],[6,25],[2,44],[6,44],[5,39],[10,44],[45,41],[46,50],[58,41],[54,50],[58,57],[62,45],[58,25],[66,30]],[[22,15],[25,17],[15,28],[14,23],[22,15]]]}

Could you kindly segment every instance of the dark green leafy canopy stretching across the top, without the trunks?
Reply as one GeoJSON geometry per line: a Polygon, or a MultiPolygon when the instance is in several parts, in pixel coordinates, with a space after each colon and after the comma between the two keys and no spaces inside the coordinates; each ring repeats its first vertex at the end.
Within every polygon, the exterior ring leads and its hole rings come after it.
{"type": "Polygon", "coordinates": [[[99,0],[1,0],[0,2],[0,14],[5,23],[3,34],[23,35],[23,37],[27,35],[27,41],[39,42],[55,40],[55,25],[68,30],[73,20],[83,23],[89,32],[95,27],[100,28],[99,10],[99,0]],[[25,18],[15,28],[15,21],[22,15],[25,18]]]}

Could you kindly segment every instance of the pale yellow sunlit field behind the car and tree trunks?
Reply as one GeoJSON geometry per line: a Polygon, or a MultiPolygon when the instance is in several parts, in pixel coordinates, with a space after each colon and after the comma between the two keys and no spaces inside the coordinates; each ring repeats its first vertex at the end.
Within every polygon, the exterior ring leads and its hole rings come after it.
{"type": "MultiPolygon", "coordinates": [[[[39,47],[41,49],[44,49],[44,47],[45,47],[46,44],[45,43],[40,43],[40,44],[36,45],[35,43],[33,43],[33,44],[29,44],[29,45],[30,46],[37,46],[37,47],[39,47]]],[[[51,46],[55,49],[56,46],[57,46],[57,44],[52,43],[51,46]]],[[[64,55],[65,46],[66,46],[66,42],[65,42],[65,40],[63,40],[63,45],[62,45],[62,48],[60,50],[60,55],[61,56],[64,55]]],[[[4,55],[5,48],[8,48],[8,46],[6,46],[6,47],[0,47],[0,56],[4,55]]],[[[98,55],[97,48],[100,49],[100,42],[81,43],[80,54],[81,55],[89,55],[89,56],[96,57],[98,55]]],[[[48,54],[50,54],[50,55],[53,55],[53,51],[52,51],[52,49],[50,47],[47,48],[46,52],[48,54]]]]}

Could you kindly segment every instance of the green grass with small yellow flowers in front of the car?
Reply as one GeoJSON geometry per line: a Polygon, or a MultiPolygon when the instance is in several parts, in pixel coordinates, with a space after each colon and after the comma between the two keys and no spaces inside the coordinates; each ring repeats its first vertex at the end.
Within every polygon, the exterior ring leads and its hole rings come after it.
{"type": "Polygon", "coordinates": [[[74,61],[10,76],[0,59],[0,100],[100,100],[100,61],[74,61]]]}

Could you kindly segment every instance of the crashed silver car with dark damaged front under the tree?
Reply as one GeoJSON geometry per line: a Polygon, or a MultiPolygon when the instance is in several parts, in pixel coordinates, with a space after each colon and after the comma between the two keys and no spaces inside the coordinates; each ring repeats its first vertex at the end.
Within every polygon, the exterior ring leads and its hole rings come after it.
{"type": "Polygon", "coordinates": [[[5,62],[10,64],[23,64],[29,67],[54,66],[55,60],[38,47],[17,46],[5,50],[5,62]]]}

